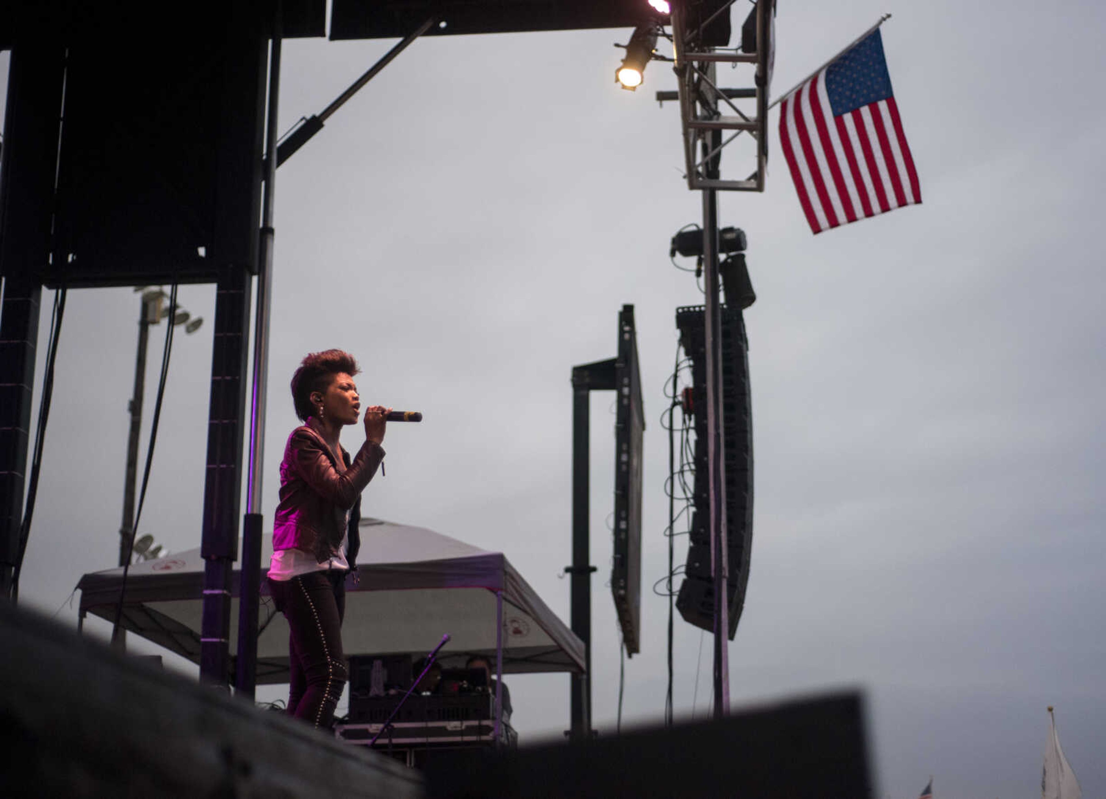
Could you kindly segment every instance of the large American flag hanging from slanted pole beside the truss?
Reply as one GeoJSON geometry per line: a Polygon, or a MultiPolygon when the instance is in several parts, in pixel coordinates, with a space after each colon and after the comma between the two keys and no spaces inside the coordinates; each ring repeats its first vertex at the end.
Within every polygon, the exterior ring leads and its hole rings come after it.
{"type": "Polygon", "coordinates": [[[784,98],[780,143],[815,234],[921,203],[878,28],[784,98]]]}

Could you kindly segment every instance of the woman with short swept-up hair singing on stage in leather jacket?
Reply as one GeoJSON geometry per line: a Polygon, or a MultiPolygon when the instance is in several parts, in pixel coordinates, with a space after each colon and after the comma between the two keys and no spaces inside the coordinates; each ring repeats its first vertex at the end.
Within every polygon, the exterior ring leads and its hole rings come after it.
{"type": "Polygon", "coordinates": [[[384,459],[389,408],[365,411],[365,443],[352,460],[338,444],[342,428],[357,423],[358,371],[341,350],[303,359],[292,401],[304,424],[289,436],[280,465],[269,587],[291,631],[288,712],[315,727],[330,727],[345,686],[345,577],[357,565],[361,492],[384,459]]]}

